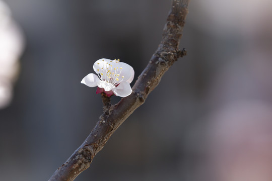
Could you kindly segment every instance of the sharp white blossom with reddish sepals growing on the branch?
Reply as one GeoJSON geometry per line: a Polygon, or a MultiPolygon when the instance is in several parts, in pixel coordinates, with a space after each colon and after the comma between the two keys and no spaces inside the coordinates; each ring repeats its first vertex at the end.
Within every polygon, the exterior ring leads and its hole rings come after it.
{"type": "Polygon", "coordinates": [[[129,85],[134,77],[133,68],[120,60],[110,60],[101,58],[93,65],[94,73],[85,76],[81,83],[89,87],[97,87],[96,94],[106,93],[108,97],[115,96],[127,97],[132,93],[129,85]]]}

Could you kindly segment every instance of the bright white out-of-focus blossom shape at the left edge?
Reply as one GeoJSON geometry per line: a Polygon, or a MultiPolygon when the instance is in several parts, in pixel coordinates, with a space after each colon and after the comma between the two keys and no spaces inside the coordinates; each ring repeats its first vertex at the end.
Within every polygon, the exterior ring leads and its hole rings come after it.
{"type": "Polygon", "coordinates": [[[22,31],[13,21],[8,6],[0,0],[0,109],[11,102],[12,83],[18,72],[18,59],[23,47],[22,31]]]}

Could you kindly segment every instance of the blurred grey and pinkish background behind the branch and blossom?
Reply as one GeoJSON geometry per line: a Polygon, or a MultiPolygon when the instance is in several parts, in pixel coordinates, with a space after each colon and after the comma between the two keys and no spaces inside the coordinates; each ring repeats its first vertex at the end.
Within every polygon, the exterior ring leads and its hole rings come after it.
{"type": "MultiPolygon", "coordinates": [[[[24,51],[0,110],[0,180],[47,180],[102,113],[81,79],[100,58],[120,58],[136,79],[171,1],[4,2],[24,51]]],[[[76,180],[272,180],[271,7],[191,0],[180,43],[188,55],[76,180]]]]}

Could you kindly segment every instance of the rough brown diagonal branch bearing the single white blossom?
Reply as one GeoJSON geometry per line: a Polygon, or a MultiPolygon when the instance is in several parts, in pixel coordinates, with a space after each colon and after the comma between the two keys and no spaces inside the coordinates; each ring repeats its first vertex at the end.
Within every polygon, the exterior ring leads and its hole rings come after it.
{"type": "Polygon", "coordinates": [[[172,1],[161,44],[132,87],[132,94],[116,105],[111,105],[110,98],[102,94],[103,115],[83,144],[53,173],[49,181],[71,181],[87,169],[112,133],[135,109],[144,104],[163,74],[179,57],[186,55],[186,50],[179,50],[178,45],[188,13],[188,3],[189,0],[172,1]]]}

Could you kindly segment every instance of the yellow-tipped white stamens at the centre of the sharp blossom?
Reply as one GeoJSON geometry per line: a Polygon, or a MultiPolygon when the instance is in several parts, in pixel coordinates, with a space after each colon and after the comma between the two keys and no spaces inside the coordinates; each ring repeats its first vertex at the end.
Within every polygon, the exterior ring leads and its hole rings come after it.
{"type": "MultiPolygon", "coordinates": [[[[124,79],[124,76],[120,77],[120,74],[121,74],[123,68],[116,66],[116,64],[118,64],[119,61],[120,61],[119,59],[117,59],[117,60],[114,59],[108,63],[108,62],[105,62],[104,60],[102,60],[101,70],[97,69],[98,72],[101,72],[101,73],[98,73],[99,78],[102,81],[106,81],[108,83],[113,84],[114,86],[119,84],[124,79]],[[113,65],[113,67],[112,67],[112,65],[113,65]],[[122,78],[122,79],[120,80],[120,78],[122,78]]],[[[97,64],[99,64],[99,63],[97,63],[97,64]]]]}

